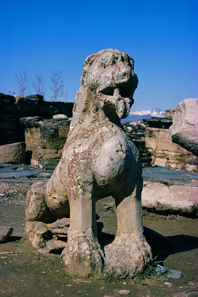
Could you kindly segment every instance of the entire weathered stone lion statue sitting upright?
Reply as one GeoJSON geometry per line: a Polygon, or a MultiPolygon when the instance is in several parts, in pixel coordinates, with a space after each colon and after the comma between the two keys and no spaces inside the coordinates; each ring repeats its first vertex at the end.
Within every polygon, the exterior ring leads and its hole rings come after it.
{"type": "Polygon", "coordinates": [[[143,233],[141,159],[120,123],[134,102],[133,68],[133,59],[117,49],[85,60],[62,158],[49,181],[35,182],[26,196],[26,231],[37,247],[39,228],[70,215],[62,257],[79,277],[131,278],[152,257],[143,233]],[[107,196],[115,199],[118,227],[103,249],[95,204],[107,196]]]}

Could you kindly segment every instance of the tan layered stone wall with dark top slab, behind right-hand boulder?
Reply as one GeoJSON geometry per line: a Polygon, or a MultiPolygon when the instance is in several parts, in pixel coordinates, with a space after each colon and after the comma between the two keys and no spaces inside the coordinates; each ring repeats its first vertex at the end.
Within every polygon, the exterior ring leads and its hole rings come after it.
{"type": "Polygon", "coordinates": [[[183,169],[198,173],[198,158],[172,142],[169,127],[172,118],[143,119],[145,145],[152,154],[152,165],[183,169]]]}

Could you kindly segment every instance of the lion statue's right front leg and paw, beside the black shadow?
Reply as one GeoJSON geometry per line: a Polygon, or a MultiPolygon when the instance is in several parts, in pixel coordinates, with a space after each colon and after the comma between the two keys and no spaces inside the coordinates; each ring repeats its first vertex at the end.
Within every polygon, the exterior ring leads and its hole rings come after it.
{"type": "Polygon", "coordinates": [[[141,209],[142,180],[128,197],[116,200],[117,233],[105,247],[107,277],[132,278],[151,262],[152,253],[143,233],[141,209]]]}

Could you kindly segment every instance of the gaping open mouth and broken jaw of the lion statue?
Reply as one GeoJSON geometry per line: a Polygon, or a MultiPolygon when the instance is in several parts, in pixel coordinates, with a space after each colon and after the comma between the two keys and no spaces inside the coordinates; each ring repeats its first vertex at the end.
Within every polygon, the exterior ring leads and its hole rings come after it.
{"type": "Polygon", "coordinates": [[[134,91],[127,87],[106,87],[100,91],[97,90],[102,109],[115,110],[120,119],[129,115],[134,103],[133,93],[134,91]]]}

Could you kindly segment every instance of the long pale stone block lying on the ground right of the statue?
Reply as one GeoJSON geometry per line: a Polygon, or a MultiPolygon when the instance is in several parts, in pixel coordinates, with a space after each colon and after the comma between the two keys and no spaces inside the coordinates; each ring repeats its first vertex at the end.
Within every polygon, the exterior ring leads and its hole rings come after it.
{"type": "Polygon", "coordinates": [[[150,183],[142,191],[142,206],[198,216],[198,187],[167,187],[160,183],[150,183]]]}

